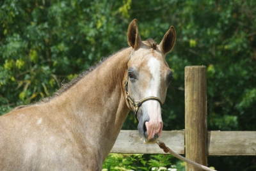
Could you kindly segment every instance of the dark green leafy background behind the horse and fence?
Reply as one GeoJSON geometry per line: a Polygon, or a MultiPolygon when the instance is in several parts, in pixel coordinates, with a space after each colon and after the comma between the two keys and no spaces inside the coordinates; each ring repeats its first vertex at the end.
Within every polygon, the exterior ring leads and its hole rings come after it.
{"type": "MultiPolygon", "coordinates": [[[[51,96],[61,83],[75,78],[101,57],[127,47],[127,26],[135,18],[143,40],[153,38],[159,43],[171,25],[177,31],[175,48],[166,57],[174,80],[163,107],[164,130],[184,129],[184,67],[204,65],[208,130],[256,131],[253,0],[3,0],[0,115],[51,96]]],[[[123,129],[136,130],[132,115],[123,129]]],[[[156,159],[154,156],[140,157],[148,169],[152,168],[147,162],[156,159]]],[[[118,158],[136,158],[136,162],[127,163],[127,169],[143,167],[136,155],[118,158]]],[[[113,156],[104,163],[111,170],[108,162],[113,164],[113,156]]],[[[181,166],[180,161],[171,162],[181,166]]],[[[256,169],[255,156],[212,157],[208,163],[216,170],[256,169]]]]}

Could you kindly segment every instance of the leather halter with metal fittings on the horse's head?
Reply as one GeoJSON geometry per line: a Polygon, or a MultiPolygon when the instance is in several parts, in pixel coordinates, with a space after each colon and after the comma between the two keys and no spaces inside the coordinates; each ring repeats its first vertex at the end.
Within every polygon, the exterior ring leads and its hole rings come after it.
{"type": "Polygon", "coordinates": [[[132,103],[132,106],[134,107],[134,110],[133,110],[134,117],[135,117],[136,121],[139,123],[137,114],[138,114],[138,110],[141,107],[142,103],[144,103],[145,101],[148,101],[148,100],[156,100],[156,101],[159,101],[161,107],[162,107],[163,103],[159,98],[154,97],[154,96],[149,96],[147,98],[143,98],[143,100],[136,103],[128,93],[128,79],[129,79],[129,76],[127,77],[127,79],[124,82],[124,87],[125,87],[125,92],[126,92],[126,100],[128,101],[129,105],[130,105],[130,102],[132,103]]]}

